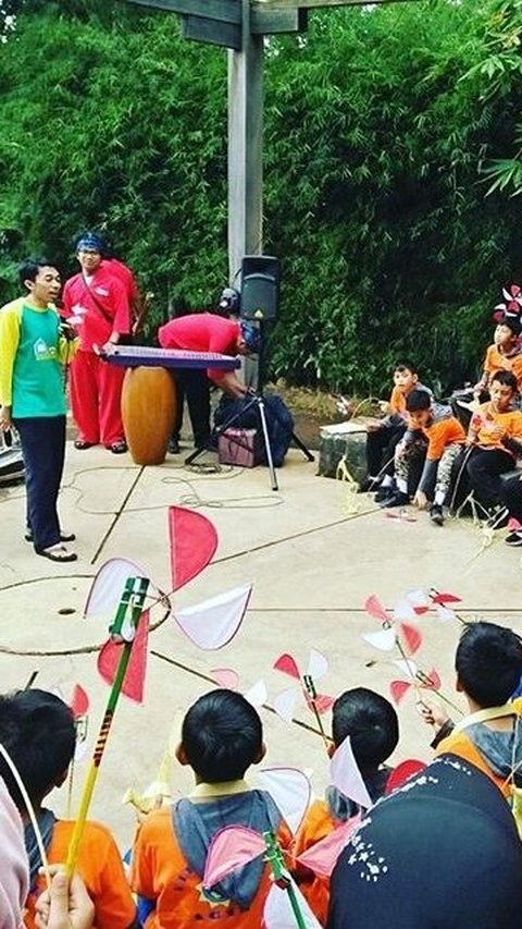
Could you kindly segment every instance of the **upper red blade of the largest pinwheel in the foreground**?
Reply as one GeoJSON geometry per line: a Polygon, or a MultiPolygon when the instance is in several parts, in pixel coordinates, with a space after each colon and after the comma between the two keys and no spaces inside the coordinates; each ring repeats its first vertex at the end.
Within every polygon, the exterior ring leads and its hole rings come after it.
{"type": "Polygon", "coordinates": [[[179,590],[213,558],[217,533],[207,516],[184,506],[169,506],[169,535],[172,589],[179,590]]]}

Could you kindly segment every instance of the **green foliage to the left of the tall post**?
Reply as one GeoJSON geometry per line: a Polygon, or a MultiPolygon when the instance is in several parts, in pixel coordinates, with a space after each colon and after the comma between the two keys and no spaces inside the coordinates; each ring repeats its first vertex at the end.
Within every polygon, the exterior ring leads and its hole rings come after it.
{"type": "Polygon", "coordinates": [[[204,305],[226,267],[226,60],[182,41],[174,16],[88,8],[21,15],[5,46],[2,225],[16,257],[44,250],[65,272],[78,231],[108,231],[163,305],[204,305]]]}

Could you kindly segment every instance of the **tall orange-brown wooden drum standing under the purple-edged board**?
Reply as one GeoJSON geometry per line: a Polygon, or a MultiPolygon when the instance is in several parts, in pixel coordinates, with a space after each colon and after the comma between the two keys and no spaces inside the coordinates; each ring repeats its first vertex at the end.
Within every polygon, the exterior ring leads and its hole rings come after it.
{"type": "Polygon", "coordinates": [[[136,464],[162,464],[176,416],[176,386],[165,368],[127,368],[122,418],[136,464]]]}

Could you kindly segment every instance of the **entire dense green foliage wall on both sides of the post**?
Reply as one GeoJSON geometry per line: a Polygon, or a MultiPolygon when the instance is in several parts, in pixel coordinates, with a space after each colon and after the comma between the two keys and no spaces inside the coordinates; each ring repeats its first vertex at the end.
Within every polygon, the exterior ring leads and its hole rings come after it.
{"type": "MultiPolygon", "coordinates": [[[[10,0],[15,2],[15,0],[10,0]]],[[[171,308],[226,279],[226,54],[124,0],[17,0],[0,57],[0,298],[105,230],[171,308]]],[[[315,12],[265,53],[273,374],[381,392],[397,357],[473,378],[521,280],[522,0],[315,12]]]]}

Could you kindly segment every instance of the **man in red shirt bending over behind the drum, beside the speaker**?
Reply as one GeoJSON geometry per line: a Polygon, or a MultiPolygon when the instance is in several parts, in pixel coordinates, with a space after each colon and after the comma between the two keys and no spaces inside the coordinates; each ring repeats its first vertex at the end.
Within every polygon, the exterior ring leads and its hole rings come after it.
{"type": "MultiPolygon", "coordinates": [[[[158,331],[163,349],[187,352],[217,352],[220,355],[249,355],[259,351],[259,329],[246,320],[238,322],[210,313],[194,313],[172,319],[158,331]]],[[[194,444],[203,449],[210,439],[210,381],[234,399],[248,393],[248,388],[234,371],[209,368],[207,371],[184,368],[174,374],[177,386],[177,411],[170,449],[178,451],[183,420],[183,399],[187,398],[192,425],[194,444]]]]}

